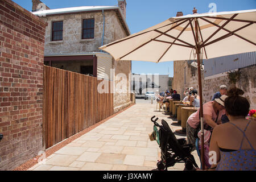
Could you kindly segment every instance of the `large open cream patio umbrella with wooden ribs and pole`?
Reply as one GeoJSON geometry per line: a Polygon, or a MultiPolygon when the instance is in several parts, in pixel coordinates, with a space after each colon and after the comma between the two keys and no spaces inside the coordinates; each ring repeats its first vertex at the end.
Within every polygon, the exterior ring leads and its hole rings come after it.
{"type": "MultiPolygon", "coordinates": [[[[197,55],[200,93],[200,122],[203,122],[203,96],[200,62],[203,59],[256,51],[256,10],[177,16],[146,30],[100,47],[116,61],[137,60],[155,63],[193,60],[197,55]]],[[[202,146],[204,133],[202,130],[202,146]]],[[[201,162],[204,168],[204,147],[201,162]]]]}

